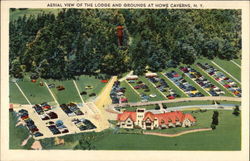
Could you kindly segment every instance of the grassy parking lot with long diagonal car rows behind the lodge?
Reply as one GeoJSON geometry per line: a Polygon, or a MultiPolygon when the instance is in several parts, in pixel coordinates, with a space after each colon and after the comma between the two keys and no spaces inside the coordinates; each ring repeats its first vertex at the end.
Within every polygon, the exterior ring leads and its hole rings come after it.
{"type": "Polygon", "coordinates": [[[169,68],[162,73],[146,73],[144,76],[129,75],[123,82],[113,86],[110,96],[113,104],[182,97],[241,97],[241,88],[238,82],[216,66],[197,63],[191,66],[169,68]]]}

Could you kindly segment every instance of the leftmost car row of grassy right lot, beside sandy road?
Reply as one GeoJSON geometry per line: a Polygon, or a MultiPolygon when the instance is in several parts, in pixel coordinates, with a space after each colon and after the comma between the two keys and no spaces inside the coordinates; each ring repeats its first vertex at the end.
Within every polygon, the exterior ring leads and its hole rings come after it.
{"type": "Polygon", "coordinates": [[[126,92],[126,88],[121,87],[119,81],[115,81],[110,92],[110,98],[112,99],[112,103],[113,104],[127,103],[128,99],[124,96],[125,92],[126,92]]]}

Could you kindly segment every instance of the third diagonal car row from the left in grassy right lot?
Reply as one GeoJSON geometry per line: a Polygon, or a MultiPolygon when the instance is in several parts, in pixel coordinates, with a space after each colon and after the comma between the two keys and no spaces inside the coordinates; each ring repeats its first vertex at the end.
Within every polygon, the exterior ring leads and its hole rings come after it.
{"type": "Polygon", "coordinates": [[[176,97],[180,97],[180,95],[178,95],[172,88],[169,87],[164,79],[154,76],[148,77],[148,80],[152,82],[159,91],[164,93],[164,95],[168,99],[175,99],[176,97]]]}

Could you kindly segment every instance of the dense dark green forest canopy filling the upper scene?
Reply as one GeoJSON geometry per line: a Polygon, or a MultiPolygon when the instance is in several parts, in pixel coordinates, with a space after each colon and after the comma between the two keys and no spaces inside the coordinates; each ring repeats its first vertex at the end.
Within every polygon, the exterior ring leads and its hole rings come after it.
{"type": "Polygon", "coordinates": [[[241,51],[240,10],[63,9],[9,25],[9,68],[16,78],[140,75],[202,57],[231,60],[241,51]]]}

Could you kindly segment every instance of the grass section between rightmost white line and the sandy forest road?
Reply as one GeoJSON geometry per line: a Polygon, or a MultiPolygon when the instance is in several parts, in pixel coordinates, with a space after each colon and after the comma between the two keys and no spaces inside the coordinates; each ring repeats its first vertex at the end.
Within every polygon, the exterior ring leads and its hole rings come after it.
{"type": "MultiPolygon", "coordinates": [[[[91,93],[95,93],[96,95],[98,95],[101,90],[103,89],[103,87],[106,85],[106,83],[102,83],[100,79],[96,79],[95,77],[90,77],[90,76],[86,76],[86,75],[82,75],[80,76],[79,80],[75,81],[77,84],[77,87],[79,89],[80,92],[87,92],[86,95],[82,95],[82,98],[84,101],[88,100],[89,94],[91,93]],[[93,86],[92,89],[85,89],[86,86],[93,86]]],[[[75,86],[74,86],[75,87],[75,86]]]]}

